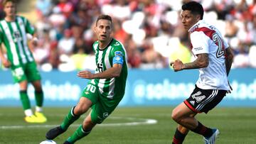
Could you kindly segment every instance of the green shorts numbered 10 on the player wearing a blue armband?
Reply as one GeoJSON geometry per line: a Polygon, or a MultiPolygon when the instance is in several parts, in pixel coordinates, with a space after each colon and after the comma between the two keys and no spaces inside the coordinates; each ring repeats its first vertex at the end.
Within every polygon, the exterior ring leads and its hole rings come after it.
{"type": "Polygon", "coordinates": [[[110,116],[110,113],[114,111],[123,96],[113,96],[113,99],[109,99],[106,96],[100,94],[98,87],[95,84],[88,83],[87,87],[82,91],[82,96],[92,101],[91,118],[92,123],[102,123],[102,121],[110,116]]]}

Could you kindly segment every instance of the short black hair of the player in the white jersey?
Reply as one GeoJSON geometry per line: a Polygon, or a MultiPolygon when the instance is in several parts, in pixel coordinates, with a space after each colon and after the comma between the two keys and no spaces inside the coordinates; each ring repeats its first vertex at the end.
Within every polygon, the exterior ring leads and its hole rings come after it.
{"type": "Polygon", "coordinates": [[[193,14],[199,14],[201,19],[203,19],[203,6],[196,1],[189,1],[186,4],[183,4],[181,9],[183,11],[191,11],[193,14]]]}

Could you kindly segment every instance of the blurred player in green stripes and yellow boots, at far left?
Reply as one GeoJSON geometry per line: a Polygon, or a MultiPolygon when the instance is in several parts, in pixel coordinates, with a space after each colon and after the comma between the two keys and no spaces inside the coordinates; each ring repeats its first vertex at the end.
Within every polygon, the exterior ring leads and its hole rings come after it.
{"type": "MultiPolygon", "coordinates": [[[[10,67],[14,77],[14,82],[18,82],[20,97],[25,121],[28,123],[44,123],[47,121],[43,115],[43,89],[41,86],[41,76],[36,68],[36,62],[31,50],[28,48],[27,33],[36,35],[34,28],[28,20],[22,16],[16,16],[16,1],[3,1],[5,18],[0,21],[0,58],[4,67],[10,67]],[[7,57],[1,44],[4,43],[7,57]],[[31,109],[28,99],[28,82],[31,82],[35,89],[36,112],[31,109]]],[[[31,43],[36,45],[36,37],[31,39],[31,43]]]]}

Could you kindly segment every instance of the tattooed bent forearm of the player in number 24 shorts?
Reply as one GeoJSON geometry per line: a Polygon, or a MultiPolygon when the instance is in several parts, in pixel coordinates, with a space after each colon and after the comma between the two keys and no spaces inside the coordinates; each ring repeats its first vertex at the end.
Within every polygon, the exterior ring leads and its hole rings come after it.
{"type": "Polygon", "coordinates": [[[201,53],[197,55],[197,59],[193,62],[188,62],[182,65],[182,70],[198,69],[208,67],[209,57],[207,53],[201,53]]]}

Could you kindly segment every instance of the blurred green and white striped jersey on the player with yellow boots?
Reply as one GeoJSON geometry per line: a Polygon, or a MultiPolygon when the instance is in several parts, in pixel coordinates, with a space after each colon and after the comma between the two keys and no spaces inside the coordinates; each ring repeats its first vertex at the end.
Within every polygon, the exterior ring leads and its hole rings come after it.
{"type": "Polygon", "coordinates": [[[16,16],[15,21],[0,21],[0,44],[4,43],[8,60],[12,65],[23,65],[34,61],[31,50],[28,48],[27,33],[33,35],[35,29],[28,20],[16,16]]]}

